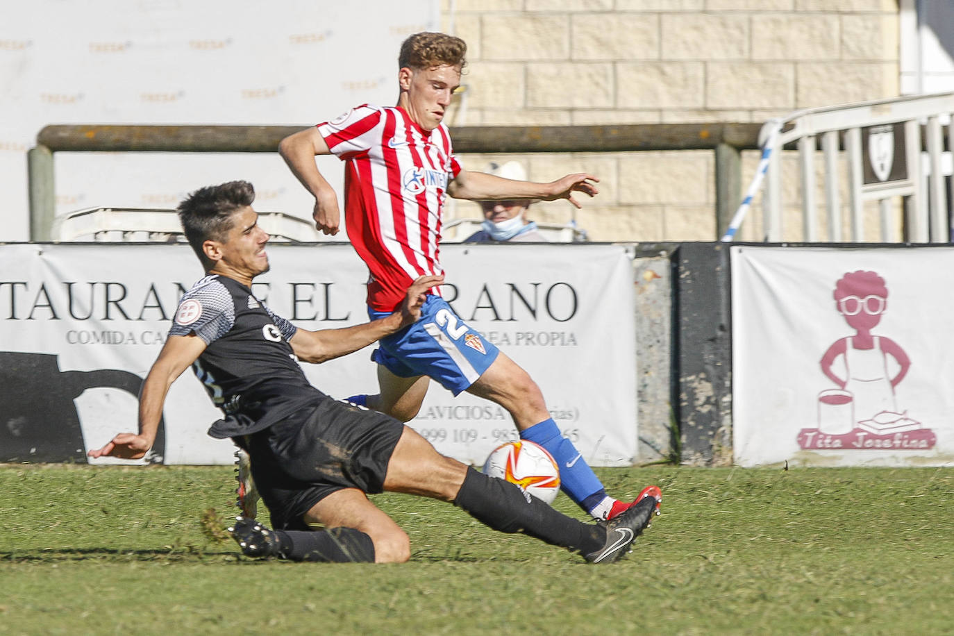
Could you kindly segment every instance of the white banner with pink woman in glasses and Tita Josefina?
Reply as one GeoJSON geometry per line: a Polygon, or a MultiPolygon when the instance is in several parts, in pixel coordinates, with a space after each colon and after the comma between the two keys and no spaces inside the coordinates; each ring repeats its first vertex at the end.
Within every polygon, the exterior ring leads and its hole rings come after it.
{"type": "Polygon", "coordinates": [[[733,247],[735,461],[954,464],[951,264],[947,247],[733,247]]]}

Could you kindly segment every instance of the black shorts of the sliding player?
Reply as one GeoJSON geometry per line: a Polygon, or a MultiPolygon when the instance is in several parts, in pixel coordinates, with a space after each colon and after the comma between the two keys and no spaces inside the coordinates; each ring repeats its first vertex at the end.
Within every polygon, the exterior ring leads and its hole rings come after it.
{"type": "Polygon", "coordinates": [[[402,433],[404,424],[384,413],[325,398],[236,442],[252,458],[273,527],[302,530],[301,517],[337,490],[382,492],[402,433]]]}

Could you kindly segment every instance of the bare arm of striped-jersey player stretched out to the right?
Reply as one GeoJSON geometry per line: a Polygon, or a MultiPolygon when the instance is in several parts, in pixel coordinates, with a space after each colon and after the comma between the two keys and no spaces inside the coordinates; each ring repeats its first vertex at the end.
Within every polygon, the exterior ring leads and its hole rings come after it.
{"type": "Polygon", "coordinates": [[[595,184],[599,181],[592,174],[567,174],[550,183],[515,181],[495,174],[461,171],[447,186],[447,194],[454,198],[472,201],[500,201],[506,199],[540,199],[552,201],[565,198],[577,208],[579,202],[573,193],[594,196],[599,193],[595,184]]]}

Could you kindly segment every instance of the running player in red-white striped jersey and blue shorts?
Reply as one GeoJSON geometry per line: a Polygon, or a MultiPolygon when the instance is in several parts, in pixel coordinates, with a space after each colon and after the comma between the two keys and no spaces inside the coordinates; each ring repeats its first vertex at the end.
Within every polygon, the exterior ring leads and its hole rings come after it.
{"type": "MultiPolygon", "coordinates": [[[[567,174],[549,183],[506,179],[464,170],[442,123],[460,86],[467,45],[444,33],[404,41],[398,59],[398,103],[358,106],[330,121],[282,139],[279,152],[315,196],[316,227],[341,229],[335,191],[315,163],[319,154],[345,162],[344,217],[348,238],[369,270],[368,315],[390,314],[416,277],[442,275],[441,223],[447,195],[468,200],[556,200],[580,207],[574,195],[597,194],[592,174],[567,174]]],[[[565,439],[539,386],[496,346],[469,327],[441,297],[428,293],[421,318],[379,343],[380,393],[354,400],[401,421],[413,419],[429,379],[454,395],[468,391],[506,408],[520,437],[543,445],[559,462],[564,491],[596,519],[612,519],[633,503],[608,496],[603,484],[565,439]]],[[[654,486],[640,493],[658,497],[654,486]]]]}

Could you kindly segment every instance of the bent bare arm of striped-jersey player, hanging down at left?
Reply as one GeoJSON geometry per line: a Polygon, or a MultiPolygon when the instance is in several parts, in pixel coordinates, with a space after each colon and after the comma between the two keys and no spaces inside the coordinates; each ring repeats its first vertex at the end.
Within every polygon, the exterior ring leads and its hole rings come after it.
{"type": "Polygon", "coordinates": [[[315,197],[315,228],[324,235],[335,236],[341,227],[342,213],[338,207],[338,195],[318,171],[315,157],[331,154],[318,128],[312,126],[298,133],[289,134],[279,144],[279,154],[288,164],[292,174],[301,181],[305,190],[315,197]]]}

